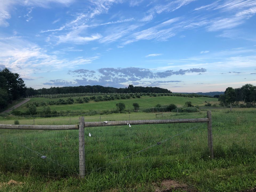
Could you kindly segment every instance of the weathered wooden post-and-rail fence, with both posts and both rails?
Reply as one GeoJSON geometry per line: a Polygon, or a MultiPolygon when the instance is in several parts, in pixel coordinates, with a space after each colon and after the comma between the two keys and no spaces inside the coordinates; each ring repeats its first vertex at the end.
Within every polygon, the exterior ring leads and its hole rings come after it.
{"type": "Polygon", "coordinates": [[[213,154],[213,134],[211,111],[207,111],[207,118],[198,119],[163,119],[163,120],[137,120],[137,121],[102,121],[85,122],[84,117],[79,117],[79,125],[6,125],[0,124],[0,129],[30,129],[30,130],[79,130],[79,175],[85,176],[85,127],[101,126],[121,126],[121,125],[145,125],[145,124],[164,124],[164,123],[203,123],[207,122],[208,127],[208,147],[210,157],[213,154]]]}

